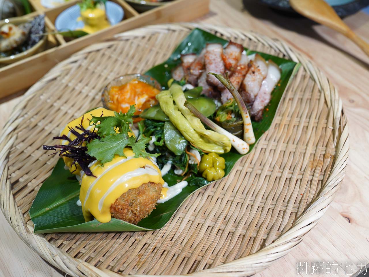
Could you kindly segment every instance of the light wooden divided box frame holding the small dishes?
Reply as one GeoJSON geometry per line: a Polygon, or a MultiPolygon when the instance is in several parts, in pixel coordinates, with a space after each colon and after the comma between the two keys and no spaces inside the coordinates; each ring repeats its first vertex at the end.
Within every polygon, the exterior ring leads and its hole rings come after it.
{"type": "MultiPolygon", "coordinates": [[[[141,14],[124,0],[112,1],[119,4],[124,10],[124,18],[118,24],[70,41],[59,34],[49,34],[44,51],[12,64],[0,64],[0,98],[30,87],[57,63],[94,42],[147,24],[191,21],[209,11],[209,0],[175,0],[141,14]]],[[[30,0],[34,12],[25,15],[25,17],[30,18],[38,14],[45,14],[47,31],[54,32],[56,31],[54,25],[56,17],[63,10],[78,2],[79,0],[70,0],[55,8],[46,9],[41,6],[40,0],[30,0]]],[[[2,22],[0,21],[0,23],[2,22]]]]}

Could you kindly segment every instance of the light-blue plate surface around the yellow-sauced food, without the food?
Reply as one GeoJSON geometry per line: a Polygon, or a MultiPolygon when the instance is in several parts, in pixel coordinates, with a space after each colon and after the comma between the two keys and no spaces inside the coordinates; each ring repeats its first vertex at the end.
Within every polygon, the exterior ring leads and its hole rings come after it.
{"type": "MultiPolygon", "coordinates": [[[[111,25],[118,24],[123,20],[124,10],[117,3],[106,1],[106,16],[111,25]]],[[[74,5],[62,11],[55,20],[55,28],[58,31],[75,31],[82,29],[85,23],[82,20],[77,21],[81,16],[79,5],[74,5]]]]}

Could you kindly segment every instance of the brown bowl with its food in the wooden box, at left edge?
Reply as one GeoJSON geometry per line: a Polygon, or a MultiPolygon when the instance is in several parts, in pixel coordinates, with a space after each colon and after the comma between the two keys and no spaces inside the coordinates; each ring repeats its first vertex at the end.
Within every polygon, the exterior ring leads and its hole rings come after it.
{"type": "Polygon", "coordinates": [[[44,32],[44,15],[4,20],[0,24],[0,64],[14,63],[44,50],[44,32]]]}

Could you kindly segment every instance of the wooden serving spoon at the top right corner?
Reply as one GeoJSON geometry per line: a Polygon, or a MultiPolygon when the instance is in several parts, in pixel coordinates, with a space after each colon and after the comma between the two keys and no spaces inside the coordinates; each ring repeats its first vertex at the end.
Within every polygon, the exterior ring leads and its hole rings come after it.
{"type": "Polygon", "coordinates": [[[297,13],[347,36],[369,56],[369,44],[354,33],[324,0],[290,0],[297,13]]]}

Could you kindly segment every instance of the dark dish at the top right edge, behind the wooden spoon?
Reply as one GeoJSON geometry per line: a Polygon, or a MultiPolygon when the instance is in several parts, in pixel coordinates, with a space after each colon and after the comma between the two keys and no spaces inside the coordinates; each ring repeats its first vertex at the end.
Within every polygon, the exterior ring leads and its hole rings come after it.
{"type": "MultiPolygon", "coordinates": [[[[259,0],[277,10],[297,14],[290,6],[289,0],[259,0]]],[[[325,0],[340,17],[351,15],[369,5],[369,0],[325,0]]]]}

